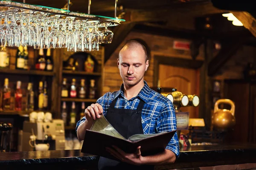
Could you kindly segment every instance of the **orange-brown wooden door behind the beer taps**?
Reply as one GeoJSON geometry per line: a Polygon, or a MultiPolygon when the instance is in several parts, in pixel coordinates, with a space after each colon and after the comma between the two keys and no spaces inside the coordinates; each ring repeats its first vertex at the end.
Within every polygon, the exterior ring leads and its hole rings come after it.
{"type": "MultiPolygon", "coordinates": [[[[161,87],[177,88],[183,94],[199,94],[199,70],[181,68],[171,65],[159,65],[158,77],[161,87]]],[[[182,107],[181,111],[189,112],[189,118],[198,118],[198,107],[182,107]]]]}

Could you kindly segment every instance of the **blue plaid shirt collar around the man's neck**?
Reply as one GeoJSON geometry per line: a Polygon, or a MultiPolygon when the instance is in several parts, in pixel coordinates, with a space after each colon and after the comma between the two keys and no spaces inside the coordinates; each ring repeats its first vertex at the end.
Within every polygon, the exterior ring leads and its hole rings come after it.
{"type": "MultiPolygon", "coordinates": [[[[145,103],[147,103],[147,102],[148,102],[148,98],[149,98],[149,94],[150,94],[150,88],[148,87],[148,83],[147,83],[145,80],[144,80],[144,84],[145,84],[145,85],[144,85],[143,88],[140,90],[140,93],[139,93],[137,96],[133,97],[132,99],[135,99],[135,98],[137,98],[137,97],[140,97],[140,99],[142,99],[145,103]]],[[[120,95],[121,95],[123,98],[125,98],[125,95],[124,95],[124,84],[121,85],[120,90],[117,91],[117,93],[116,93],[114,99],[115,99],[116,97],[120,96],[120,95]]]]}

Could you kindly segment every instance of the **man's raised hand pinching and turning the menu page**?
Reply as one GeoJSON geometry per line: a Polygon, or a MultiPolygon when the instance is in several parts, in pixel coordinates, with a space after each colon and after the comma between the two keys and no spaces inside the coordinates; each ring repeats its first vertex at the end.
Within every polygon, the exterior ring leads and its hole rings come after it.
{"type": "Polygon", "coordinates": [[[93,123],[96,118],[100,118],[100,114],[102,113],[103,108],[98,103],[91,104],[84,111],[84,115],[88,123],[93,123]]]}

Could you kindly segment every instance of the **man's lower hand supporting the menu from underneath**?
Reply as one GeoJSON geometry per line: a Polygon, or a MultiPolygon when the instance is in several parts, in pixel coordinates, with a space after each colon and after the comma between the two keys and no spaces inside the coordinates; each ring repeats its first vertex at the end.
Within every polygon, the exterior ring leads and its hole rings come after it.
{"type": "Polygon", "coordinates": [[[143,156],[141,156],[140,146],[137,147],[135,153],[125,153],[119,147],[112,146],[113,148],[106,147],[106,150],[111,153],[117,159],[120,159],[123,162],[134,164],[134,165],[141,165],[143,164],[143,156]]]}

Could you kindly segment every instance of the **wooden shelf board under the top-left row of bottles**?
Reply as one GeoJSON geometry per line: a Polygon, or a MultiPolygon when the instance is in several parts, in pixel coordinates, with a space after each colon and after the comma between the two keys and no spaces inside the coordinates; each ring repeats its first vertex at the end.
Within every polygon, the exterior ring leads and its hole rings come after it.
{"type": "Polygon", "coordinates": [[[3,68],[0,69],[0,73],[5,74],[28,74],[28,75],[42,75],[42,76],[53,76],[53,71],[39,71],[39,70],[14,70],[14,69],[8,69],[3,68]]]}

